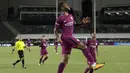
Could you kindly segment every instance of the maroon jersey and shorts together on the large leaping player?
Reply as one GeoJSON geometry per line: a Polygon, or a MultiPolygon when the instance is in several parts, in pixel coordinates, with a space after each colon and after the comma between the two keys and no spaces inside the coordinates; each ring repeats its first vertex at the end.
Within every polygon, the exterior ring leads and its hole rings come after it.
{"type": "Polygon", "coordinates": [[[55,29],[61,29],[61,40],[63,43],[62,54],[70,54],[71,49],[76,47],[80,41],[73,36],[74,18],[71,14],[62,14],[58,17],[55,23],[55,29]]]}

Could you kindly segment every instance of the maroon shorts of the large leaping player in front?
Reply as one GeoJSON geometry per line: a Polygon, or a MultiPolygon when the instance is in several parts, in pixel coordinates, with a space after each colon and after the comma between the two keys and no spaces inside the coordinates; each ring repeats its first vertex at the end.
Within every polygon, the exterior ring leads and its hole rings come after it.
{"type": "Polygon", "coordinates": [[[61,37],[62,54],[71,54],[71,50],[80,43],[78,39],[73,36],[61,37]]]}

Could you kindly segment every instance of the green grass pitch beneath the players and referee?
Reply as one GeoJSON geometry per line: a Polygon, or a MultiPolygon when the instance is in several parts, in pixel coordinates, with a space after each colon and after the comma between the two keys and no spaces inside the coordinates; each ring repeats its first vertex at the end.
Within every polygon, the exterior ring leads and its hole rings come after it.
{"type": "MultiPolygon", "coordinates": [[[[39,47],[31,47],[31,52],[25,50],[25,65],[21,63],[12,68],[12,63],[18,59],[17,52],[11,54],[13,47],[0,47],[0,73],[56,73],[61,59],[61,48],[58,55],[54,47],[48,47],[49,59],[43,66],[38,65],[39,47]],[[53,53],[52,53],[53,52],[53,53]]],[[[99,46],[98,62],[106,62],[106,65],[94,73],[130,73],[130,46],[99,46]]],[[[87,67],[86,59],[82,52],[76,49],[72,54],[64,73],[83,73],[87,67]]]]}

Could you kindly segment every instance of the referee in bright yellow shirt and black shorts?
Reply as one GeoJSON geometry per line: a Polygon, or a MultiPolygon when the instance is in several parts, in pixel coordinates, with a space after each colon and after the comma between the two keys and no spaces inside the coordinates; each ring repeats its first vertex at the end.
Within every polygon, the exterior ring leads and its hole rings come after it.
{"type": "MultiPolygon", "coordinates": [[[[15,43],[15,48],[12,50],[12,53],[13,53],[14,50],[17,49],[18,55],[19,55],[19,59],[15,63],[13,63],[13,68],[15,68],[15,65],[17,63],[19,63],[20,61],[22,61],[22,68],[26,69],[26,67],[24,65],[24,48],[27,48],[27,46],[25,45],[24,41],[22,41],[22,39],[19,39],[15,43]]],[[[30,51],[29,48],[27,48],[27,49],[30,51]]]]}

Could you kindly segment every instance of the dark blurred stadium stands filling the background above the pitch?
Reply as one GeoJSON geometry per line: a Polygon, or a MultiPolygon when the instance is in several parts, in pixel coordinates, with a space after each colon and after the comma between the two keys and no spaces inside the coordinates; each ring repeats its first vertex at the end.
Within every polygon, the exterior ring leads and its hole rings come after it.
{"type": "MultiPolygon", "coordinates": [[[[60,1],[64,0],[58,0],[60,1]]],[[[74,9],[76,25],[80,24],[83,17],[89,16],[92,20],[89,25],[75,27],[74,33],[92,32],[93,0],[66,1],[74,9]]],[[[103,33],[104,38],[110,33],[122,34],[124,37],[127,35],[125,39],[117,35],[115,38],[122,39],[123,42],[129,41],[130,0],[98,0],[95,10],[97,34],[103,33]]],[[[28,37],[31,37],[29,34],[53,34],[55,14],[56,0],[0,0],[0,41],[14,41],[19,34],[28,34],[28,37]]],[[[106,41],[108,40],[110,39],[106,41]]]]}

